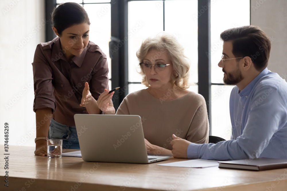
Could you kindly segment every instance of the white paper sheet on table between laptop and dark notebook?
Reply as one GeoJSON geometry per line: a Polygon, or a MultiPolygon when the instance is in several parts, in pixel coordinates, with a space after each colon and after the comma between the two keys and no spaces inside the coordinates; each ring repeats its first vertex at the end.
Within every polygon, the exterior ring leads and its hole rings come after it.
{"type": "Polygon", "coordinates": [[[194,159],[194,160],[170,162],[170,163],[158,164],[158,165],[160,165],[160,166],[187,167],[187,168],[207,168],[207,167],[212,167],[212,166],[219,166],[219,163],[217,160],[194,159]]]}

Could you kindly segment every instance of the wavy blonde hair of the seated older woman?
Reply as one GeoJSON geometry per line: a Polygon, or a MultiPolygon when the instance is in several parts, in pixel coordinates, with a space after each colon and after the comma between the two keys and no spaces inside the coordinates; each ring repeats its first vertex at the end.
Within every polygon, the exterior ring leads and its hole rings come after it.
{"type": "MultiPolygon", "coordinates": [[[[166,53],[171,60],[175,72],[175,74],[172,74],[171,78],[171,80],[174,81],[174,84],[182,90],[189,88],[189,60],[184,55],[183,46],[179,44],[177,39],[165,33],[158,34],[154,38],[147,38],[141,43],[141,47],[136,53],[139,63],[144,62],[144,58],[148,52],[152,50],[159,50],[161,53],[166,53]]],[[[139,73],[142,75],[141,83],[146,87],[150,87],[144,71],[141,69],[139,73]]]]}

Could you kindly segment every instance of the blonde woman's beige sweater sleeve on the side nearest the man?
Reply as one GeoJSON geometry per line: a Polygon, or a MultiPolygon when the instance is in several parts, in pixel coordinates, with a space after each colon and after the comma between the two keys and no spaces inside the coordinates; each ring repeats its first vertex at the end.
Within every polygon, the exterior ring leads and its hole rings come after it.
{"type": "Polygon", "coordinates": [[[205,99],[200,96],[199,104],[192,118],[186,139],[192,143],[208,143],[209,122],[205,99]]]}

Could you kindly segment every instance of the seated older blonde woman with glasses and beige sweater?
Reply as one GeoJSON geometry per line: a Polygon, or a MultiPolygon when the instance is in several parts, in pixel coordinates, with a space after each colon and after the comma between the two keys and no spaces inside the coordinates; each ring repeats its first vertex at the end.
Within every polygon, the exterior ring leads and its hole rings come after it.
{"type": "Polygon", "coordinates": [[[189,62],[178,41],[168,34],[148,38],[137,58],[147,88],[128,94],[116,114],[141,116],[148,153],[172,155],[172,134],[208,143],[205,99],[187,90],[189,62]]]}

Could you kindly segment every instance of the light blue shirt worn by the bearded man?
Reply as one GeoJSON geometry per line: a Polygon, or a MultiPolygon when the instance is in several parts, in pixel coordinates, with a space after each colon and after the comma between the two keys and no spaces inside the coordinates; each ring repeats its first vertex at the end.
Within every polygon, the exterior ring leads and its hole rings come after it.
{"type": "MultiPolygon", "coordinates": [[[[265,68],[243,90],[230,94],[231,140],[190,143],[189,159],[287,159],[287,83],[265,68]]],[[[226,119],[228,120],[228,119],[226,119]]]]}

